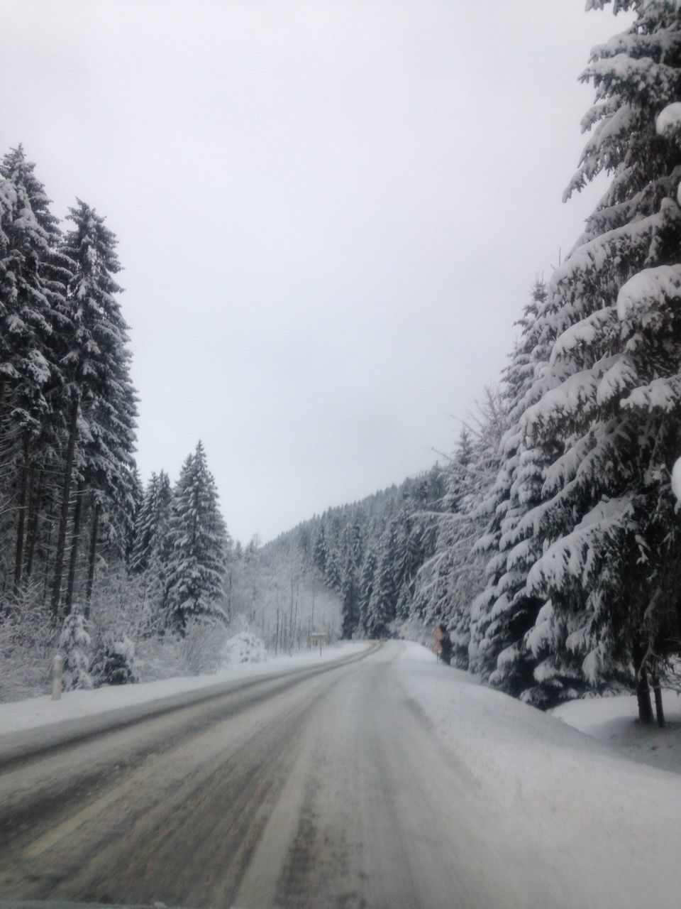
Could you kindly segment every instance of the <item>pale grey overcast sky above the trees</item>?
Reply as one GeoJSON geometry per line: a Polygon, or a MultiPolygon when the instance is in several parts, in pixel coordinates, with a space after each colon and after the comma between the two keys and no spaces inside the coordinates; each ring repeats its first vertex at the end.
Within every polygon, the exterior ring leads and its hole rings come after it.
{"type": "MultiPolygon", "coordinates": [[[[584,0],[0,0],[1,153],[125,271],[138,464],[201,438],[232,534],[449,452],[595,205],[584,0]]],[[[601,187],[602,188],[602,187],[601,187]]]]}

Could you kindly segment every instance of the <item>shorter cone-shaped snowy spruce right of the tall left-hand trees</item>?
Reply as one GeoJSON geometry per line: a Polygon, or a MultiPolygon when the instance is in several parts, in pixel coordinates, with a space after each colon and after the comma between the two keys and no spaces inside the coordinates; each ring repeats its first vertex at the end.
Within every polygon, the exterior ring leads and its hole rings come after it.
{"type": "Polygon", "coordinates": [[[201,442],[187,457],[175,485],[167,539],[168,626],[184,634],[193,617],[225,622],[222,585],[229,536],[201,442]]]}

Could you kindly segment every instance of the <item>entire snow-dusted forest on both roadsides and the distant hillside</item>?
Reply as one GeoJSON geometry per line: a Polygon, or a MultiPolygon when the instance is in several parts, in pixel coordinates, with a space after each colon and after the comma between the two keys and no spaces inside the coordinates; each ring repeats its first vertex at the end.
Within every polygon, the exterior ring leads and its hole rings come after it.
{"type": "MultiPolygon", "coordinates": [[[[262,545],[232,541],[197,441],[173,483],[134,460],[116,237],[64,223],[21,145],[0,165],[0,700],[445,629],[451,664],[546,709],[631,689],[664,722],[681,654],[681,22],[633,12],[591,51],[565,200],[607,190],[553,273],[528,275],[508,362],[448,458],[262,545]]],[[[540,266],[539,266],[540,267],[540,266]]],[[[452,389],[452,399],[456,389],[452,389]]],[[[427,441],[427,440],[424,440],[427,441]]],[[[225,505],[229,514],[229,503],[225,505]]]]}

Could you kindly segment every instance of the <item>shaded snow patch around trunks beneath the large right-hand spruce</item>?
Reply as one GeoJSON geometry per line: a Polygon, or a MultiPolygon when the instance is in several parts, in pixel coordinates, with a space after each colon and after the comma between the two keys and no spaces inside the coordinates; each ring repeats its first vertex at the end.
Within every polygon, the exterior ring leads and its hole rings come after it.
{"type": "Polygon", "coordinates": [[[628,694],[569,701],[551,713],[630,760],[681,774],[681,698],[666,691],[664,706],[664,729],[639,724],[637,699],[628,694]]]}

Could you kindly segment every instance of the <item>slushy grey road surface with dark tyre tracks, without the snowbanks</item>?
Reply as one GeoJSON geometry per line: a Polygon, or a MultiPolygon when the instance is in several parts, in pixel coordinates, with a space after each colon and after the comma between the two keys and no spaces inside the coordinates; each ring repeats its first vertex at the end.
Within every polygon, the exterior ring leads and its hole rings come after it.
{"type": "Polygon", "coordinates": [[[5,900],[479,906],[463,768],[400,644],[238,684],[0,766],[5,900]],[[465,883],[465,882],[468,882],[465,883]]]}

